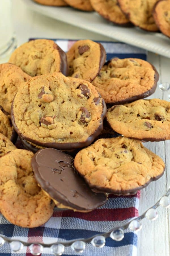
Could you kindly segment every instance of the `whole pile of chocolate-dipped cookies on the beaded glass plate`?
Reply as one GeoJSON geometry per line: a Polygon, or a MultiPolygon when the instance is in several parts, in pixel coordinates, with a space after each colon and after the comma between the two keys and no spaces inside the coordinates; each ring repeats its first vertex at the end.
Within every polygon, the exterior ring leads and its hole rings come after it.
{"type": "Polygon", "coordinates": [[[41,39],[0,65],[0,210],[11,223],[40,226],[54,205],[89,212],[108,193],[134,194],[163,175],[163,160],[141,143],[170,138],[169,102],[143,100],[156,69],[105,60],[91,40],[65,54],[41,39]]]}

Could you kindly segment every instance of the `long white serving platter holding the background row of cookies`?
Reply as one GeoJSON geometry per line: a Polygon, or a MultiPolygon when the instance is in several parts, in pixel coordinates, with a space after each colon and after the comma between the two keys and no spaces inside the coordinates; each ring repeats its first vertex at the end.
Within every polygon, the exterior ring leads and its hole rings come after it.
{"type": "Polygon", "coordinates": [[[170,58],[170,38],[161,33],[147,32],[137,27],[116,26],[96,12],[88,13],[71,7],[44,6],[32,0],[22,1],[27,8],[43,15],[170,58]]]}

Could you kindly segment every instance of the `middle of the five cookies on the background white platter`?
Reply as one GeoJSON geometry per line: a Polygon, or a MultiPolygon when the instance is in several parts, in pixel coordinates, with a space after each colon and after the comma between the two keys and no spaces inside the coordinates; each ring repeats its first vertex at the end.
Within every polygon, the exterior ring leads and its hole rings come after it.
{"type": "Polygon", "coordinates": [[[131,24],[124,13],[122,13],[117,0],[90,0],[90,2],[94,10],[103,16],[103,18],[121,26],[128,26],[131,24]]]}

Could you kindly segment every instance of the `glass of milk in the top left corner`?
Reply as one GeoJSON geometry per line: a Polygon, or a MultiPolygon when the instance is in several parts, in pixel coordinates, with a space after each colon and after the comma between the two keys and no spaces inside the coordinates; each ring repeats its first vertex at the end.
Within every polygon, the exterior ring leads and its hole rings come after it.
{"type": "Polygon", "coordinates": [[[11,0],[0,0],[0,61],[9,57],[16,48],[12,24],[11,0]]]}

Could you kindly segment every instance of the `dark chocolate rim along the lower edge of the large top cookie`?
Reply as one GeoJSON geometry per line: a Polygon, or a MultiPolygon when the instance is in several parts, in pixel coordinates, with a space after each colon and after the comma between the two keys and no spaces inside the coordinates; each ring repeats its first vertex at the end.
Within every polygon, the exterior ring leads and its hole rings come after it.
{"type": "Polygon", "coordinates": [[[44,148],[56,148],[59,150],[71,150],[71,149],[75,149],[75,148],[83,148],[83,147],[89,146],[103,130],[103,119],[105,118],[106,113],[107,113],[105,101],[102,99],[103,112],[101,114],[101,123],[100,123],[98,129],[91,136],[89,136],[86,141],[71,142],[71,143],[41,143],[41,142],[35,141],[31,138],[27,138],[27,137],[23,136],[22,133],[20,133],[20,131],[18,130],[18,127],[15,124],[13,103],[14,103],[14,100],[12,101],[12,105],[11,105],[11,120],[12,120],[12,125],[14,127],[14,130],[18,133],[18,136],[22,139],[25,139],[26,141],[32,142],[35,145],[42,146],[44,148]]]}

